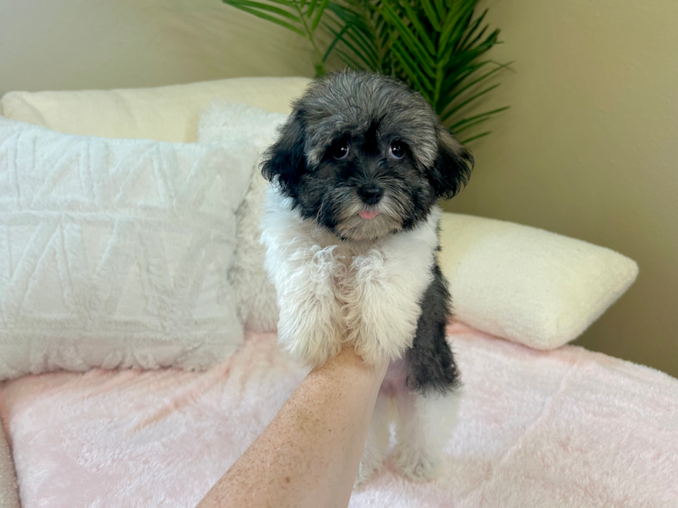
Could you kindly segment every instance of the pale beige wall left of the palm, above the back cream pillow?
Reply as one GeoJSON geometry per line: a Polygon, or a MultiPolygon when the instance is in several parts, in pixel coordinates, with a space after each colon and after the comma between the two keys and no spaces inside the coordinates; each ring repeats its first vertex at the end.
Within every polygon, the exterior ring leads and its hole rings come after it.
{"type": "Polygon", "coordinates": [[[0,95],[312,74],[304,39],[219,0],[0,1],[0,95]]]}

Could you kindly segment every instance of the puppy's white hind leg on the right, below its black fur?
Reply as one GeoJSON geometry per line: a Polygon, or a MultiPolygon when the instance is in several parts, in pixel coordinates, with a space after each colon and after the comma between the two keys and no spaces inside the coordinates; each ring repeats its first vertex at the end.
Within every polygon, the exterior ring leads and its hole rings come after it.
{"type": "Polygon", "coordinates": [[[436,478],[443,448],[457,421],[459,393],[421,395],[405,390],[394,398],[398,410],[396,467],[405,478],[436,478]]]}

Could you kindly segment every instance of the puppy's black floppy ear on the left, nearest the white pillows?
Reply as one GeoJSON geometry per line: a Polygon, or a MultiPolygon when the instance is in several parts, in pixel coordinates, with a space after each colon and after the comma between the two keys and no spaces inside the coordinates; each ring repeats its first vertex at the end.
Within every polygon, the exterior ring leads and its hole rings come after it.
{"type": "Polygon", "coordinates": [[[302,112],[295,111],[280,128],[275,143],[266,149],[262,162],[262,175],[269,182],[277,182],[287,196],[295,194],[299,178],[306,169],[304,138],[306,130],[302,112]]]}

